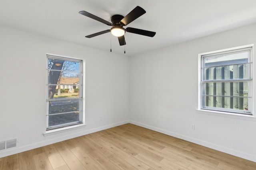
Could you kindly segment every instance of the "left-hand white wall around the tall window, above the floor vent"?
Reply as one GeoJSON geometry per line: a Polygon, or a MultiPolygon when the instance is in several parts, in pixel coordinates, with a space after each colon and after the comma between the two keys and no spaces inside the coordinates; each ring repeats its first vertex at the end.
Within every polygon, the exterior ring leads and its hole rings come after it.
{"type": "Polygon", "coordinates": [[[0,27],[0,141],[18,138],[0,157],[128,122],[129,81],[125,55],[0,27]],[[86,127],[44,137],[46,53],[85,59],[86,127]]]}

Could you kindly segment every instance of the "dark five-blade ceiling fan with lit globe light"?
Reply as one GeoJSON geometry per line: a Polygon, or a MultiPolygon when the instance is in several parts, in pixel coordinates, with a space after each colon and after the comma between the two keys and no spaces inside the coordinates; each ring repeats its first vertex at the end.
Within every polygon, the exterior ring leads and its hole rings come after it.
{"type": "Polygon", "coordinates": [[[124,39],[124,34],[126,32],[129,33],[136,33],[136,34],[140,34],[140,35],[145,35],[148,37],[154,37],[154,35],[156,34],[156,32],[152,32],[152,31],[146,31],[143,29],[137,29],[137,28],[131,28],[131,27],[127,27],[126,29],[123,26],[128,25],[129,23],[131,23],[132,21],[136,20],[137,18],[139,18],[140,16],[142,16],[143,14],[145,14],[146,11],[141,8],[140,6],[136,6],[136,8],[134,8],[129,14],[127,14],[125,17],[121,16],[121,15],[113,15],[111,17],[111,21],[112,23],[103,20],[102,18],[99,18],[97,16],[94,16],[93,14],[90,14],[89,12],[86,11],[80,11],[79,14],[82,14],[84,16],[87,16],[89,18],[92,18],[94,20],[100,21],[106,25],[112,26],[111,29],[107,29],[105,31],[100,31],[98,33],[94,33],[91,35],[87,35],[85,37],[87,38],[92,38],[95,37],[97,35],[102,35],[104,33],[108,33],[111,32],[112,35],[118,37],[119,40],[119,44],[120,45],[125,45],[125,39],[124,39]]]}

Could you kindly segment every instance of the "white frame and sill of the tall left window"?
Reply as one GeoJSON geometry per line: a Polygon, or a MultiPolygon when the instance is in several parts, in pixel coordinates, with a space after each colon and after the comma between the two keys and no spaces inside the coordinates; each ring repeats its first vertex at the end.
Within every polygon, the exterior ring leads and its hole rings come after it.
{"type": "MultiPolygon", "coordinates": [[[[68,61],[81,61],[81,74],[80,74],[80,98],[82,100],[80,101],[80,123],[74,124],[74,125],[67,125],[67,126],[62,126],[58,128],[53,128],[53,129],[47,129],[48,122],[46,118],[46,132],[43,133],[44,136],[48,135],[54,135],[56,133],[64,132],[64,131],[69,131],[70,129],[77,129],[81,128],[86,125],[85,123],[85,80],[84,80],[84,75],[85,75],[85,61],[83,59],[78,59],[74,57],[66,57],[62,55],[54,55],[54,54],[46,54],[46,70],[48,70],[48,57],[52,58],[58,58],[62,60],[68,60],[68,61]]],[[[48,102],[48,71],[46,74],[46,103],[48,102]]],[[[46,105],[46,115],[48,114],[48,104],[46,105]]]]}

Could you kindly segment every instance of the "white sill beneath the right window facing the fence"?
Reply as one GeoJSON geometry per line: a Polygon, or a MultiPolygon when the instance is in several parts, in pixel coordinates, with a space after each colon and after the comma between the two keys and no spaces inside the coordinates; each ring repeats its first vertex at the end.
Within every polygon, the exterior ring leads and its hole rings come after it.
{"type": "Polygon", "coordinates": [[[212,111],[206,109],[196,109],[198,113],[207,114],[207,115],[214,115],[214,116],[221,116],[221,117],[230,117],[234,119],[242,119],[242,120],[250,120],[256,121],[256,117],[254,115],[245,115],[239,113],[228,113],[223,111],[212,111]]]}

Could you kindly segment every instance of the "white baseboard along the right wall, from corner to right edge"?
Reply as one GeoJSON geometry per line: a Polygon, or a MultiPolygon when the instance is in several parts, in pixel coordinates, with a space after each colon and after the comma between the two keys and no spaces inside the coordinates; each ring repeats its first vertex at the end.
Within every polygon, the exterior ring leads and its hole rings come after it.
{"type": "Polygon", "coordinates": [[[150,126],[150,125],[146,125],[146,124],[143,124],[143,123],[139,123],[139,122],[136,122],[136,121],[130,121],[130,123],[134,124],[134,125],[138,125],[138,126],[141,126],[141,127],[145,127],[147,129],[150,129],[150,130],[153,130],[153,131],[157,131],[157,132],[160,132],[160,133],[164,133],[166,135],[170,135],[172,137],[176,137],[176,138],[179,138],[179,139],[183,139],[185,141],[189,141],[189,142],[192,142],[192,143],[196,143],[198,145],[202,145],[204,147],[208,147],[208,148],[211,148],[211,149],[215,149],[215,150],[218,150],[218,151],[221,151],[221,152],[225,152],[225,153],[228,153],[228,154],[231,154],[231,155],[234,155],[234,156],[238,156],[240,158],[244,158],[244,159],[247,159],[247,160],[251,160],[253,162],[256,162],[256,155],[252,155],[252,154],[247,154],[247,153],[244,153],[244,152],[240,152],[238,150],[234,150],[234,149],[230,149],[230,148],[226,148],[226,147],[222,147],[222,146],[219,146],[219,145],[215,145],[213,143],[208,143],[206,141],[201,141],[199,139],[195,139],[195,138],[192,138],[192,137],[188,137],[188,136],[184,136],[184,135],[180,135],[178,133],[174,133],[174,132],[171,132],[171,131],[166,131],[164,129],[160,129],[160,128],[157,128],[157,127],[153,127],[153,126],[150,126]]]}

